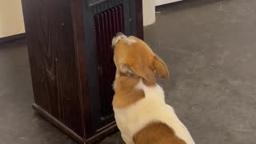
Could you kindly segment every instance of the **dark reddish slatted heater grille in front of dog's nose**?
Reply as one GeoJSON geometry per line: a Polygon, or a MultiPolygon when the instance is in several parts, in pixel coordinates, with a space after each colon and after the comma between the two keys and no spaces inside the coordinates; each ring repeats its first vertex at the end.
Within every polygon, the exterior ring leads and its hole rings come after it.
{"type": "Polygon", "coordinates": [[[115,66],[113,62],[112,38],[118,32],[124,32],[122,5],[115,6],[94,16],[96,47],[98,56],[98,83],[102,117],[113,114],[112,98],[114,90],[115,66]]]}

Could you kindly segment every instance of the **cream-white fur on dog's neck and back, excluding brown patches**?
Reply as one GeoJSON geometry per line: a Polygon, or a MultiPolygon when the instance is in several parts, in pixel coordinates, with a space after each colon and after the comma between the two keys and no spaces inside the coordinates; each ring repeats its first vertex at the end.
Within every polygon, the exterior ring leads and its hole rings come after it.
{"type": "Polygon", "coordinates": [[[166,104],[161,86],[146,86],[142,80],[135,89],[144,90],[145,98],[124,109],[114,108],[114,117],[126,144],[133,144],[133,136],[150,122],[163,122],[170,126],[186,144],[194,144],[186,126],[180,122],[173,108],[166,104]]]}

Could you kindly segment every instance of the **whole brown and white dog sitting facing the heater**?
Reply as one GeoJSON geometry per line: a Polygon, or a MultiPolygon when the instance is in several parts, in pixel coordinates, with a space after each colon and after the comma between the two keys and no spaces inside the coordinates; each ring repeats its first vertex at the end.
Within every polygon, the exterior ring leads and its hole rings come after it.
{"type": "Polygon", "coordinates": [[[166,104],[156,84],[168,78],[166,64],[142,40],[118,33],[112,41],[114,63],[114,118],[126,144],[194,144],[186,126],[166,104]]]}

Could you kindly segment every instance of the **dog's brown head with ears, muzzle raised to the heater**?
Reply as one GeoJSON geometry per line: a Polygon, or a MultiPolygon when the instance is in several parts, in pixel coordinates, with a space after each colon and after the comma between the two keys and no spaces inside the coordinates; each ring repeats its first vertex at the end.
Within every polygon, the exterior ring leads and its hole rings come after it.
{"type": "Polygon", "coordinates": [[[119,76],[139,77],[147,85],[154,85],[155,74],[159,78],[168,78],[169,71],[161,58],[141,39],[134,36],[126,37],[116,34],[112,40],[114,47],[114,64],[117,67],[116,78],[119,76]]]}

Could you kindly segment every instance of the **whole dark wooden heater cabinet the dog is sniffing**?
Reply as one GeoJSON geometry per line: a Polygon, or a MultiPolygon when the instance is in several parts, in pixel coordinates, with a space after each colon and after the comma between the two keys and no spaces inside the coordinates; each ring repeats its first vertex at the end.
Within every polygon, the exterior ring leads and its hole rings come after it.
{"type": "Polygon", "coordinates": [[[142,0],[22,0],[34,110],[80,143],[117,130],[117,32],[143,36],[142,0]]]}

